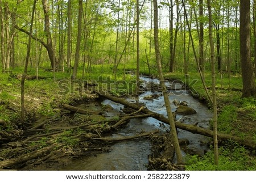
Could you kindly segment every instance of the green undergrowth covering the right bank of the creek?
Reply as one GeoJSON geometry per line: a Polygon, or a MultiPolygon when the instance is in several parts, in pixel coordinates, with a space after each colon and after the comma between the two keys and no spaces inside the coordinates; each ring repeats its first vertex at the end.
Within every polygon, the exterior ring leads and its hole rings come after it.
{"type": "MultiPolygon", "coordinates": [[[[187,78],[181,73],[168,73],[166,78],[177,79],[188,84],[192,83],[190,89],[192,94],[194,94],[193,96],[196,96],[196,98],[206,103],[212,109],[212,104],[205,92],[199,73],[189,74],[187,78]]],[[[210,73],[206,73],[205,84],[210,96],[212,94],[211,79],[210,73]]],[[[220,75],[216,75],[216,91],[218,132],[256,142],[256,98],[241,98],[241,75],[232,74],[231,79],[227,75],[224,75],[222,79],[220,75]]],[[[212,128],[212,121],[210,121],[210,125],[212,128]]],[[[188,155],[186,170],[256,170],[255,151],[249,151],[235,142],[221,143],[218,153],[218,166],[213,163],[213,149],[210,149],[202,157],[188,155]]]]}

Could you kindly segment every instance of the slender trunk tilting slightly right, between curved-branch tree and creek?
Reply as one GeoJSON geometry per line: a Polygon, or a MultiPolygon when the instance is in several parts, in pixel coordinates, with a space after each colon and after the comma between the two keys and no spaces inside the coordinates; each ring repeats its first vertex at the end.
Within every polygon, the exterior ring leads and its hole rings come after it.
{"type": "Polygon", "coordinates": [[[81,33],[82,33],[82,0],[79,0],[79,15],[78,15],[78,27],[77,27],[77,40],[76,40],[76,53],[75,53],[75,64],[73,69],[74,78],[77,77],[77,69],[79,67],[80,58],[80,44],[81,44],[81,33]]]}

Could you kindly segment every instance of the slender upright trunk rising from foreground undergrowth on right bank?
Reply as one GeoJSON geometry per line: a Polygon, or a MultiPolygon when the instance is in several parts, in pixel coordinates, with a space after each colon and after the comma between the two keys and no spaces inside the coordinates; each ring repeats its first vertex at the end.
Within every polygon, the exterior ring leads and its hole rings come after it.
{"type": "Polygon", "coordinates": [[[217,102],[216,102],[216,74],[214,60],[214,45],[212,35],[212,7],[210,0],[207,0],[209,14],[209,40],[210,60],[212,62],[212,100],[213,100],[213,143],[214,143],[214,164],[218,166],[218,138],[217,138],[217,102]]]}

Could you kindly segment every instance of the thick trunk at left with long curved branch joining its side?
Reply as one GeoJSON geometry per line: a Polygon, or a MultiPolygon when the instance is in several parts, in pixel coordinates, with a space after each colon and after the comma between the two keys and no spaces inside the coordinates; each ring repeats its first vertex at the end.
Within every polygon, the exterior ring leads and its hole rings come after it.
{"type": "Polygon", "coordinates": [[[48,52],[49,60],[51,61],[52,69],[55,69],[54,66],[59,66],[57,64],[57,59],[55,57],[53,44],[52,44],[52,37],[51,37],[51,30],[50,30],[50,22],[49,22],[49,5],[48,0],[42,0],[43,10],[44,10],[44,32],[46,33],[46,49],[48,52]]]}

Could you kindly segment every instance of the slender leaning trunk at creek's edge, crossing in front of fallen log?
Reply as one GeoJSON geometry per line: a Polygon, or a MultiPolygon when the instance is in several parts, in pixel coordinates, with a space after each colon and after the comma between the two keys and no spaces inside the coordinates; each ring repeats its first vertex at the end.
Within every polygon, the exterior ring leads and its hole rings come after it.
{"type": "Polygon", "coordinates": [[[158,65],[158,73],[159,73],[160,83],[161,83],[162,89],[163,89],[164,103],[166,104],[167,115],[168,115],[168,119],[170,121],[171,139],[172,139],[172,141],[174,141],[174,147],[175,147],[176,156],[177,156],[177,163],[181,164],[181,163],[183,163],[183,159],[182,159],[182,155],[181,155],[181,151],[180,151],[179,141],[177,138],[174,117],[172,116],[170,100],[169,100],[169,97],[167,94],[166,85],[164,84],[162,62],[161,62],[161,58],[160,58],[159,40],[158,40],[158,3],[156,0],[154,0],[153,2],[154,2],[154,40],[155,40],[156,62],[158,65]]]}

